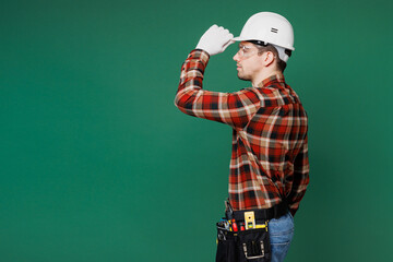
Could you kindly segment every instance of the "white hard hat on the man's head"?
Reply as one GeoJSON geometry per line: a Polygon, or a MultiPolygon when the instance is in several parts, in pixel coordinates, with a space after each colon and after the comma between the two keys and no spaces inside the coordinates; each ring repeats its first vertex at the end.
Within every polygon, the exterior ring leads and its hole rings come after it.
{"type": "Polygon", "coordinates": [[[288,60],[285,49],[290,51],[294,48],[294,28],[284,16],[272,12],[260,12],[252,15],[241,29],[240,36],[233,40],[260,40],[264,44],[272,44],[278,51],[283,61],[288,60]]]}

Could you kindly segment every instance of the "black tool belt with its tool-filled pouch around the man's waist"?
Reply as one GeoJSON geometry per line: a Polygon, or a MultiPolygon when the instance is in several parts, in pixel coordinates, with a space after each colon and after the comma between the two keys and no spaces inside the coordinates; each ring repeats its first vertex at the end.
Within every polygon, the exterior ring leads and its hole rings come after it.
{"type": "Polygon", "coordinates": [[[285,201],[266,210],[233,211],[226,201],[226,217],[217,224],[216,262],[270,262],[269,221],[288,212],[285,201]]]}

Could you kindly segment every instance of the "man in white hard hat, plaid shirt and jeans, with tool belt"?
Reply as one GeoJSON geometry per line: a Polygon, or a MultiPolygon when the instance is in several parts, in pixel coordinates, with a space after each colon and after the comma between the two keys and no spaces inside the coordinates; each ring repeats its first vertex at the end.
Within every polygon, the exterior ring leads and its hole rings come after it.
{"type": "MultiPolygon", "coordinates": [[[[261,258],[254,261],[276,262],[283,261],[288,251],[294,235],[293,216],[309,183],[307,114],[283,75],[295,50],[293,45],[290,23],[279,14],[261,12],[247,21],[236,38],[227,29],[213,25],[182,64],[176,106],[190,116],[233,128],[227,207],[234,210],[229,224],[237,225],[230,225],[230,230],[242,231],[248,226],[254,229],[257,221],[257,224],[266,222],[270,234],[267,246],[262,246],[262,240],[261,246],[250,247],[245,242],[236,251],[219,241],[217,261],[261,258]],[[210,57],[223,52],[235,41],[239,41],[234,57],[238,78],[250,81],[252,87],[235,93],[202,90],[210,57]],[[252,213],[246,213],[250,211],[252,213]],[[251,221],[245,214],[252,214],[248,217],[251,221]],[[269,253],[265,248],[271,254],[265,255],[269,253]],[[251,249],[259,255],[251,257],[251,249]]],[[[227,240],[229,235],[222,238],[227,240]]],[[[240,239],[242,233],[238,235],[240,239]]]]}

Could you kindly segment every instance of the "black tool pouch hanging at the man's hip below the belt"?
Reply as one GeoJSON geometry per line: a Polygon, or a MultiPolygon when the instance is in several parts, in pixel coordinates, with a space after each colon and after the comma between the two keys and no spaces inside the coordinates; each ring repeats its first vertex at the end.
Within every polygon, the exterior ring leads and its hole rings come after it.
{"type": "Polygon", "coordinates": [[[217,225],[217,240],[216,262],[271,261],[267,227],[234,233],[217,225]]]}

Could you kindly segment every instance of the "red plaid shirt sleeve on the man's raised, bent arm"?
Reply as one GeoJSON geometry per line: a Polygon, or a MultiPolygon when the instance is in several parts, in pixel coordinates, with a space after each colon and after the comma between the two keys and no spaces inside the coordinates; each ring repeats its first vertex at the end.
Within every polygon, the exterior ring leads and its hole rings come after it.
{"type": "Polygon", "coordinates": [[[209,53],[195,49],[181,67],[180,83],[175,105],[184,114],[227,123],[234,128],[245,127],[260,107],[260,98],[252,88],[235,93],[202,90],[203,73],[209,53]]]}

